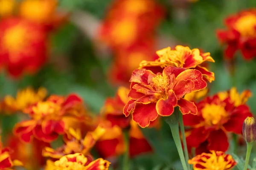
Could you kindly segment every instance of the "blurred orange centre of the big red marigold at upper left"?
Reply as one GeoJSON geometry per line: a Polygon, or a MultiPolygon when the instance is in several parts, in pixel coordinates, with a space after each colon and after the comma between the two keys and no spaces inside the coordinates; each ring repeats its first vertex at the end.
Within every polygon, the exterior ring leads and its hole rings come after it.
{"type": "Polygon", "coordinates": [[[9,28],[3,36],[3,46],[9,51],[9,59],[11,62],[17,62],[19,60],[20,51],[26,52],[29,41],[29,32],[22,26],[17,25],[9,28]],[[25,49],[25,50],[24,50],[25,49]]]}

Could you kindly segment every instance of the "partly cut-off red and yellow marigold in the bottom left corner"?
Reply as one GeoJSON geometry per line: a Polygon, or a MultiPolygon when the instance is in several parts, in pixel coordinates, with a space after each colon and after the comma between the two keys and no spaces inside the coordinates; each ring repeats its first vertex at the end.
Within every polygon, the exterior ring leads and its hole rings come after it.
{"type": "Polygon", "coordinates": [[[22,163],[18,160],[12,160],[9,148],[3,148],[0,141],[0,170],[12,170],[13,166],[22,166],[22,163]]]}

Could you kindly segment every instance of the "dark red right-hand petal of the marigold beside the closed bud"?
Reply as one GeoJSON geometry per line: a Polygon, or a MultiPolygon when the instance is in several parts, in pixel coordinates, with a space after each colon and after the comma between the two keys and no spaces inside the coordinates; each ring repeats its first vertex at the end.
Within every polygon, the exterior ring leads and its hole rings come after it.
{"type": "Polygon", "coordinates": [[[249,108],[246,105],[240,105],[231,112],[229,121],[223,126],[229,132],[241,134],[244,119],[246,119],[247,116],[253,115],[250,113],[249,108]]]}

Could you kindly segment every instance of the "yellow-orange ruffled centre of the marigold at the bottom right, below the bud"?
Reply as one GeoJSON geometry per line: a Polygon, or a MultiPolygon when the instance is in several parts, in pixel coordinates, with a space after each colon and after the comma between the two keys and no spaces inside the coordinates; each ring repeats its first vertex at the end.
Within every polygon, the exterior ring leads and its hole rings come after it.
{"type": "MultiPolygon", "coordinates": [[[[210,156],[208,159],[201,157],[202,161],[204,161],[201,165],[207,170],[228,170],[231,166],[230,162],[224,159],[226,155],[217,156],[215,152],[212,152],[212,154],[208,154],[208,156],[210,156]]],[[[232,159],[232,156],[228,158],[228,160],[230,159],[232,159]]]]}

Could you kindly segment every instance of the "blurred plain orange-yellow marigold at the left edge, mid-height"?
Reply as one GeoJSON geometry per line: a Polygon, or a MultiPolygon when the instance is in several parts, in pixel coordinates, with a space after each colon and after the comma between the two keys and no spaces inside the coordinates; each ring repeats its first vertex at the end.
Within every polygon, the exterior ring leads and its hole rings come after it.
{"type": "Polygon", "coordinates": [[[39,88],[35,91],[33,88],[25,88],[17,92],[16,98],[8,95],[4,98],[4,110],[7,111],[23,111],[24,108],[29,107],[37,102],[42,101],[47,95],[45,88],[39,88]]]}

